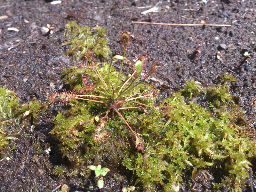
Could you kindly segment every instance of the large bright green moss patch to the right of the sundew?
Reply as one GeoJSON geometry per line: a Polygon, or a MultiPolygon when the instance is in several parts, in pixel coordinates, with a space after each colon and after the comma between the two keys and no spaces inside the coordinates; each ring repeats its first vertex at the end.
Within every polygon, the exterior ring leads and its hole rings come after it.
{"type": "Polygon", "coordinates": [[[230,123],[233,117],[227,111],[215,117],[194,102],[186,104],[180,93],[163,103],[164,120],[157,113],[151,115],[154,120],[140,116],[144,135],[150,135],[145,153],[123,162],[136,172],[137,182],[147,191],[157,190],[158,184],[163,191],[172,191],[188,175],[193,178],[196,170],[213,172],[219,164],[223,175],[213,188],[244,189],[256,155],[256,140],[248,137],[254,132],[230,123]]]}

